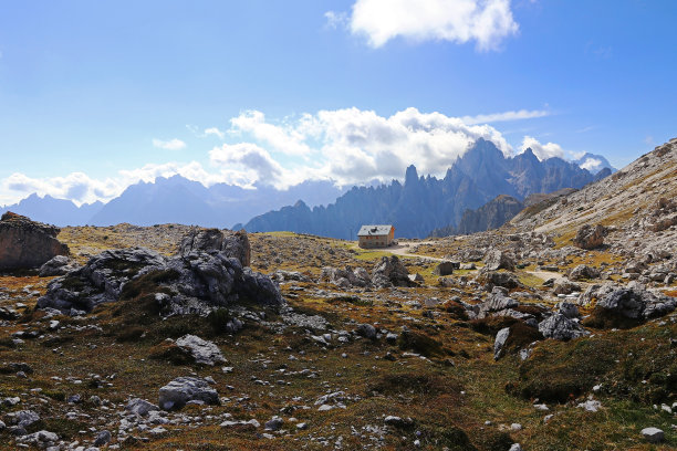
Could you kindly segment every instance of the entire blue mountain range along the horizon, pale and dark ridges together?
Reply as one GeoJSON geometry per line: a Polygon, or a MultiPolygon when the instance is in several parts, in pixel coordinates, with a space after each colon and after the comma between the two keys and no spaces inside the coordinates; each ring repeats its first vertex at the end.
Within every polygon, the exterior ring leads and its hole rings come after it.
{"type": "MultiPolygon", "coordinates": [[[[497,196],[522,202],[529,195],[581,188],[612,172],[608,161],[598,155],[585,154],[571,162],[560,158],[541,161],[528,149],[507,158],[491,141],[479,139],[442,179],[419,177],[415,166],[407,168],[404,183],[372,182],[347,191],[332,181],[309,180],[278,190],[264,185],[253,189],[227,183],[205,187],[181,176],[158,177],[127,187],[107,203],[79,207],[71,200],[33,193],[0,208],[0,213],[10,210],[60,227],[180,223],[243,227],[248,231],[290,230],[343,239],[354,239],[363,223],[393,223],[397,235],[420,238],[435,229],[455,230],[466,210],[477,209],[497,196]]],[[[513,203],[510,211],[514,208],[513,203]]],[[[506,214],[501,218],[509,219],[506,214]]],[[[464,232],[478,231],[477,227],[486,222],[487,227],[494,226],[498,219],[487,222],[476,218],[464,232]]],[[[468,217],[466,223],[472,221],[468,217]]]]}

